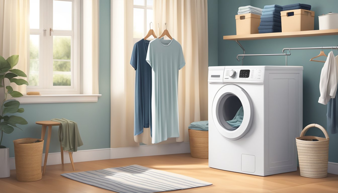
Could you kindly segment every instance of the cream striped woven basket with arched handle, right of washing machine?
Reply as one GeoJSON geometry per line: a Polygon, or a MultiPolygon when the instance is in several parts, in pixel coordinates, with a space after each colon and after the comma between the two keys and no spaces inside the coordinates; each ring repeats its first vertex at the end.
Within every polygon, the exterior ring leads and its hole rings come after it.
{"type": "Polygon", "coordinates": [[[310,124],[301,131],[300,137],[296,137],[300,175],[303,177],[321,178],[328,175],[329,160],[329,135],[318,124],[310,124]],[[317,127],[323,131],[325,138],[305,136],[311,127],[317,127]],[[318,141],[313,141],[318,140],[318,141]]]}

